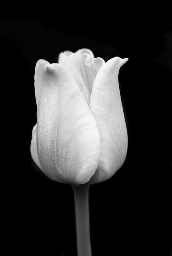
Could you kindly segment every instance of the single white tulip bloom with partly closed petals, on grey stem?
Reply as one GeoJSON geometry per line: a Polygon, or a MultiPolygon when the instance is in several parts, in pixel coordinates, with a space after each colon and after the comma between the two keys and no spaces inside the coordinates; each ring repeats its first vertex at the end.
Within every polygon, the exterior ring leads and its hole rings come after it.
{"type": "MultiPolygon", "coordinates": [[[[72,185],[75,207],[82,208],[79,198],[88,198],[90,184],[108,180],[125,160],[127,129],[118,74],[127,60],[105,62],[84,48],[59,54],[58,63],[36,63],[31,155],[51,180],[72,185]]],[[[81,247],[79,256],[91,255],[90,250],[84,254],[88,244],[81,247]]]]}

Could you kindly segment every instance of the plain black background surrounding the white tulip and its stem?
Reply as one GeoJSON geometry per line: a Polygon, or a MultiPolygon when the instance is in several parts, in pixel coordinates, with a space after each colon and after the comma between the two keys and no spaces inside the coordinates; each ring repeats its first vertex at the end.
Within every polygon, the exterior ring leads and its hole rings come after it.
{"type": "Polygon", "coordinates": [[[57,62],[60,52],[89,48],[105,61],[129,58],[119,74],[128,152],[111,179],[90,186],[92,256],[170,256],[170,2],[156,4],[157,10],[140,4],[124,11],[121,3],[107,10],[102,6],[94,12],[92,6],[84,6],[73,12],[63,3],[53,14],[48,9],[49,15],[40,10],[35,15],[1,14],[1,195],[6,254],[77,255],[72,187],[50,182],[30,155],[36,124],[34,72],[40,58],[57,62]]]}

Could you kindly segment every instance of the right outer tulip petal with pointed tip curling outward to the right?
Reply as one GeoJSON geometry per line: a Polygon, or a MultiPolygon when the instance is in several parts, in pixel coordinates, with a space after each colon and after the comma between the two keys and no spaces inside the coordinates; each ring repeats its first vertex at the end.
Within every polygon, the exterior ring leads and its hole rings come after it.
{"type": "Polygon", "coordinates": [[[127,153],[127,129],[118,83],[120,67],[128,59],[107,61],[94,80],[90,109],[100,133],[100,160],[90,184],[109,179],[122,166],[127,153]]]}

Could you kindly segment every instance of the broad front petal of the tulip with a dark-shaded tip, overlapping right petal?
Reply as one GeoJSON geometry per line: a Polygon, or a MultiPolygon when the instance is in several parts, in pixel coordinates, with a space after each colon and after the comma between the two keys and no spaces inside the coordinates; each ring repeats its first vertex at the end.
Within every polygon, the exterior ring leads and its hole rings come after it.
{"type": "Polygon", "coordinates": [[[37,151],[50,179],[74,185],[88,182],[99,162],[96,120],[74,79],[57,63],[42,71],[37,151]]]}

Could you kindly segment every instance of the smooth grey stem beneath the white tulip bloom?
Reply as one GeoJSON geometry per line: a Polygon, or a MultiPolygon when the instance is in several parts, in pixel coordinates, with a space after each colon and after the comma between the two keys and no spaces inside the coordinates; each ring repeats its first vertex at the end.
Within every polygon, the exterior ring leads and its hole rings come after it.
{"type": "Polygon", "coordinates": [[[75,201],[78,256],[91,256],[89,228],[89,184],[72,185],[75,201]]]}

